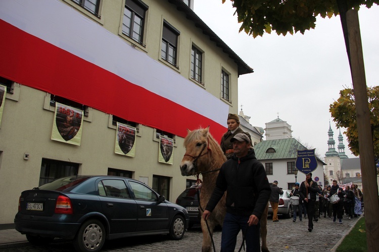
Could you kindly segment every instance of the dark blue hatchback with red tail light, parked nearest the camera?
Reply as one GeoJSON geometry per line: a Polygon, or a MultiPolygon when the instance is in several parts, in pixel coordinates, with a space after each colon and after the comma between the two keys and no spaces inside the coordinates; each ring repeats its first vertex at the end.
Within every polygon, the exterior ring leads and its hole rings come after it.
{"type": "Polygon", "coordinates": [[[118,176],[63,177],[21,193],[16,230],[33,244],[55,237],[78,251],[99,251],[105,240],[168,234],[181,239],[189,216],[146,184],[118,176]]]}

